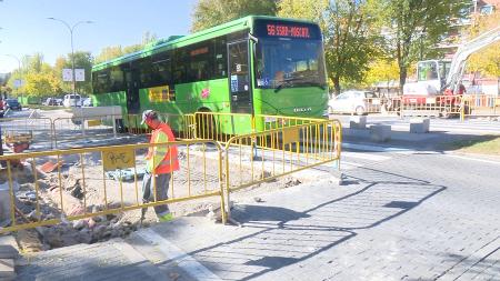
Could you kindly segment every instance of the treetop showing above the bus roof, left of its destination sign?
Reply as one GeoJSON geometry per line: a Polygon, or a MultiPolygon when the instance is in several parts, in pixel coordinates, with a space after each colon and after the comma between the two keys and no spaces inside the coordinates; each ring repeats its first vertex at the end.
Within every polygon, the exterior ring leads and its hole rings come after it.
{"type": "Polygon", "coordinates": [[[274,16],[276,0],[199,0],[191,31],[200,31],[249,14],[274,16]]]}

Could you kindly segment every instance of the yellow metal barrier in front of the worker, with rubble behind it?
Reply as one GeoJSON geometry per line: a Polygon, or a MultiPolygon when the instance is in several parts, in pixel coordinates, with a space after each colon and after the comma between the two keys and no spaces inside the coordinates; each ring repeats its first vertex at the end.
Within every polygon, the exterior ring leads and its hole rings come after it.
{"type": "Polygon", "coordinates": [[[0,233],[213,197],[226,221],[221,147],[213,141],[18,153],[0,161],[7,167],[0,170],[0,219],[10,220],[0,233]],[[139,183],[148,149],[172,145],[180,170],[172,172],[169,198],[159,200],[153,183],[154,199],[143,202],[139,183]]]}

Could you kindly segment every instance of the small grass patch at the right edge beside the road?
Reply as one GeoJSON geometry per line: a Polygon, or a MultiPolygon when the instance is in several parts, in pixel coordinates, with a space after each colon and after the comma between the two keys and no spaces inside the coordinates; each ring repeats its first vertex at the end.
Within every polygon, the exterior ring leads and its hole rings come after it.
{"type": "Polygon", "coordinates": [[[500,134],[454,141],[449,144],[448,149],[466,153],[500,155],[500,134]]]}

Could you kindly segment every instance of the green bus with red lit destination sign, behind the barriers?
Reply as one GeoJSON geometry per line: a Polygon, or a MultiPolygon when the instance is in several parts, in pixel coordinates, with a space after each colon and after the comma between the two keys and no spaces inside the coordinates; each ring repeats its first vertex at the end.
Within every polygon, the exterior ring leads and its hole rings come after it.
{"type": "MultiPolygon", "coordinates": [[[[260,16],[170,37],[96,64],[92,87],[94,106],[120,106],[123,114],[139,116],[154,109],[172,116],[320,118],[328,102],[318,24],[260,16]]],[[[244,122],[223,130],[244,132],[244,122]]],[[[176,122],[172,127],[181,130],[176,122]]]]}

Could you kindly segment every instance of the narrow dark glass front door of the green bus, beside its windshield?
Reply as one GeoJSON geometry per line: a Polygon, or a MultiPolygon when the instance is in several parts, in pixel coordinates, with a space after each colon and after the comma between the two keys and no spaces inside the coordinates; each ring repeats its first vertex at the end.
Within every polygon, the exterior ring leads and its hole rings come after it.
{"type": "Polygon", "coordinates": [[[248,41],[228,43],[229,92],[232,113],[252,113],[248,41]]]}

